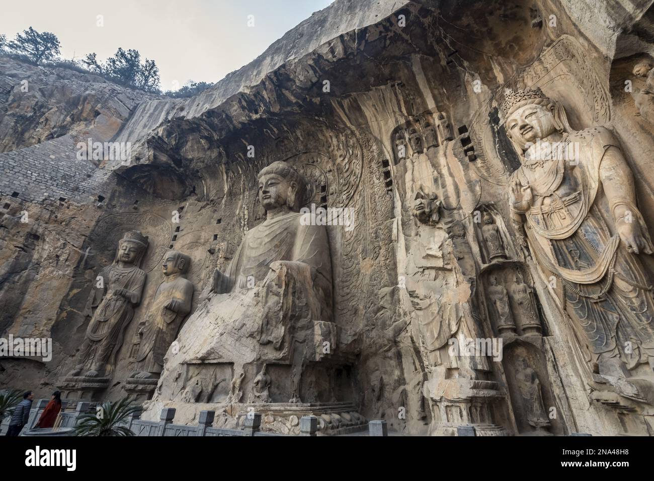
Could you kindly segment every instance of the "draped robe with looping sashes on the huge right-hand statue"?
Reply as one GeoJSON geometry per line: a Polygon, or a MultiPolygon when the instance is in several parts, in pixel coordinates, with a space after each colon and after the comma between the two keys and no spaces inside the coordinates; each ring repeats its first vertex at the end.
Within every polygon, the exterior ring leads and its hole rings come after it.
{"type": "MultiPolygon", "coordinates": [[[[568,139],[579,144],[577,165],[530,160],[511,177],[534,194],[523,217],[527,241],[547,282],[551,275],[558,278],[561,305],[583,331],[594,359],[619,356],[631,369],[654,356],[654,299],[642,263],[619,238],[602,189],[600,165],[621,155],[619,144],[604,127],[568,139]]],[[[640,213],[632,215],[651,246],[640,213]]]]}

